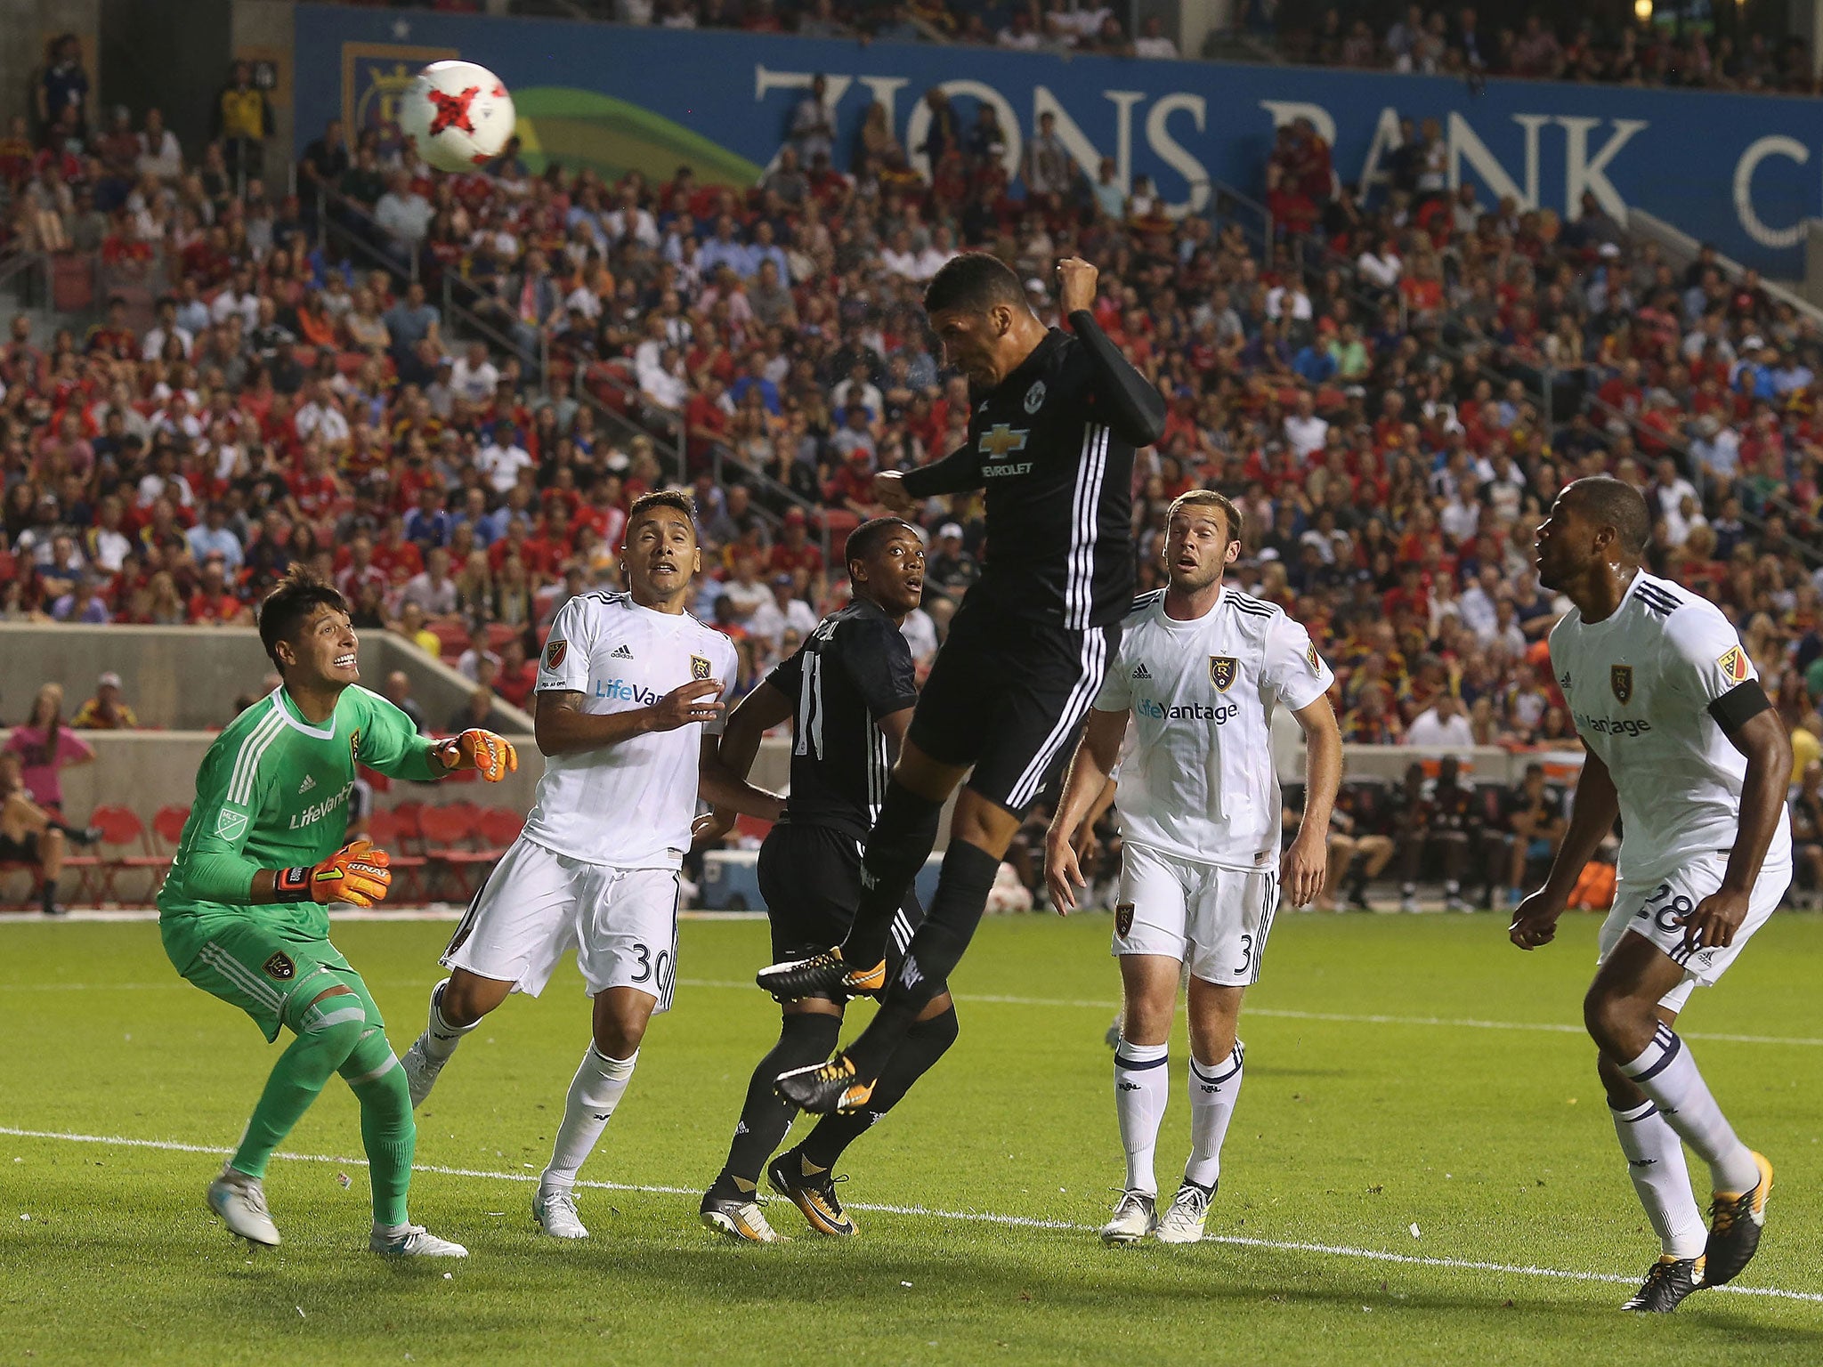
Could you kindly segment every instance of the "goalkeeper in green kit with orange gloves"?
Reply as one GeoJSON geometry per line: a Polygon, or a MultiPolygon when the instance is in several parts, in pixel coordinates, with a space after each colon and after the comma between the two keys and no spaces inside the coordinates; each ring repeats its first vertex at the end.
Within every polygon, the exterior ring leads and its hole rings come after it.
{"type": "Polygon", "coordinates": [[[330,1074],[341,1074],[361,1103],[374,1188],[368,1247],[465,1258],[459,1243],[407,1219],[412,1101],[372,993],[328,940],[324,908],[374,906],[392,882],[383,849],[343,844],[357,762],[397,778],[479,769],[500,782],[520,760],[490,731],[423,740],[405,713],[357,687],[348,605],[312,574],[294,570],[266,596],[259,640],[284,682],[210,745],[159,893],[159,933],[177,971],[252,1015],[268,1043],[281,1026],[294,1035],[208,1203],[233,1234],[277,1245],[266,1163],[330,1074]]]}

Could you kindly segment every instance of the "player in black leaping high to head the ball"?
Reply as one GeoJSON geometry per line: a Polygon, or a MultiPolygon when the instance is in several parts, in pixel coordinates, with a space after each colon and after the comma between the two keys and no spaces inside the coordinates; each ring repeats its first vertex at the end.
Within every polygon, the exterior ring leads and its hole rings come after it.
{"type": "Polygon", "coordinates": [[[868,1103],[893,1050],[944,992],[1001,858],[1052,762],[1101,687],[1132,607],[1134,450],[1159,439],[1165,401],[1096,324],[1096,268],[1057,266],[1072,334],[1046,328],[1019,277],[983,252],[924,290],[944,359],[970,383],[968,445],[917,470],[875,476],[912,512],[933,494],[986,490],[988,560],[950,625],[868,835],[855,924],[835,950],[762,970],[778,997],[886,988],[893,911],[950,822],[942,877],[879,1015],[844,1054],[778,1079],[806,1110],[868,1103]]]}

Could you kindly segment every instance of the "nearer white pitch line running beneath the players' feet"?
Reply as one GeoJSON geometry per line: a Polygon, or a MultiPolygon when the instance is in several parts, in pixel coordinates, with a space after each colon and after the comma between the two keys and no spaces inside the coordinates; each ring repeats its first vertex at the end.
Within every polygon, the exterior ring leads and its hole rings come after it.
{"type": "MultiPolygon", "coordinates": [[[[120,1136],[106,1134],[67,1134],[62,1130],[20,1130],[11,1125],[0,1125],[0,1134],[16,1136],[20,1139],[57,1139],[71,1145],[120,1145],[124,1148],[159,1148],[171,1154],[232,1154],[232,1148],[217,1148],[215,1145],[184,1145],[175,1139],[126,1139],[120,1136]]],[[[366,1167],[365,1157],[337,1157],[334,1154],[273,1154],[273,1157],[290,1159],[294,1163],[337,1163],[341,1167],[366,1167]]],[[[487,1181],[538,1181],[536,1172],[489,1172],[485,1168],[447,1168],[434,1163],[414,1163],[412,1172],[432,1172],[439,1177],[481,1177],[487,1181]]],[[[651,1187],[640,1183],[623,1181],[583,1181],[578,1179],[578,1187],[589,1187],[603,1192],[644,1192],[649,1196],[700,1196],[702,1190],[696,1187],[651,1187]]],[[[1096,1225],[1074,1225],[1065,1219],[1034,1219],[1032,1216],[1003,1216],[992,1210],[941,1210],[922,1205],[873,1205],[860,1201],[846,1201],[850,1210],[871,1210],[886,1216],[928,1216],[932,1219],[966,1219],[975,1225],[1004,1225],[1012,1228],[1054,1228],[1066,1230],[1074,1234],[1094,1234],[1096,1225]]],[[[1615,1272],[1571,1272],[1560,1267],[1520,1267],[1519,1263],[1484,1263],[1473,1258],[1420,1258],[1416,1254],[1396,1254],[1385,1252],[1382,1249],[1354,1249],[1345,1243],[1309,1243],[1303,1239],[1251,1239],[1240,1234],[1212,1234],[1203,1239],[1205,1243],[1227,1243],[1240,1249],[1271,1249],[1274,1252],[1314,1252],[1325,1254],[1329,1258],[1360,1258],[1373,1263],[1400,1263],[1406,1267],[1446,1267],[1460,1272],[1509,1272],[1513,1276],[1528,1278],[1555,1278],[1559,1281],[1602,1281],[1617,1287],[1632,1287],[1639,1278],[1619,1276],[1615,1272]]],[[[1823,1292],[1816,1290],[1785,1290],[1783,1287],[1710,1287],[1710,1290],[1734,1292],[1737,1296],[1774,1296],[1777,1300],[1788,1301],[1816,1301],[1823,1303],[1823,1292]]]]}

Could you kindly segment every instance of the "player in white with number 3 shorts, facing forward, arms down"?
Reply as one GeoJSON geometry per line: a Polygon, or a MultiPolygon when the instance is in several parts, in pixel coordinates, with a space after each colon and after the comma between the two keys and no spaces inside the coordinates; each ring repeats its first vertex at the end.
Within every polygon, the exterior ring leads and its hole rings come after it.
{"type": "Polygon", "coordinates": [[[1119,651],[1045,842],[1045,877],[1065,913],[1085,886],[1077,864],[1085,817],[1117,762],[1114,1106],[1127,1185],[1101,1230],[1108,1243],[1154,1230],[1167,1243],[1203,1238],[1241,1086],[1241,995],[1260,981],[1280,897],[1293,906],[1316,900],[1329,862],[1329,811],[1342,780],[1342,735],[1327,696],[1334,674],[1302,625],[1272,603],[1223,587],[1240,532],[1240,510],[1221,494],[1200,488],[1172,501],[1165,518],[1170,587],[1139,598],[1121,625],[1119,651]],[[1280,705],[1298,718],[1309,749],[1303,822],[1283,860],[1269,736],[1280,705]],[[1167,1041],[1185,964],[1190,1161],[1159,1219],[1152,1154],[1170,1097],[1167,1041]]]}

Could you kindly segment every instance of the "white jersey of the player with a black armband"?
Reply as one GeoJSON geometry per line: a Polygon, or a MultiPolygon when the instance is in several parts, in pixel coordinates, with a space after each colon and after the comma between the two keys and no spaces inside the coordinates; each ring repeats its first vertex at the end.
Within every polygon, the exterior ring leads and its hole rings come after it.
{"type": "MultiPolygon", "coordinates": [[[[1759,671],[1721,609],[1637,570],[1606,618],[1571,609],[1551,629],[1551,671],[1582,744],[1613,775],[1622,880],[1652,884],[1734,848],[1746,756],[1712,705],[1759,671]]],[[[1787,815],[1766,864],[1788,862],[1790,846],[1787,815]]]]}

